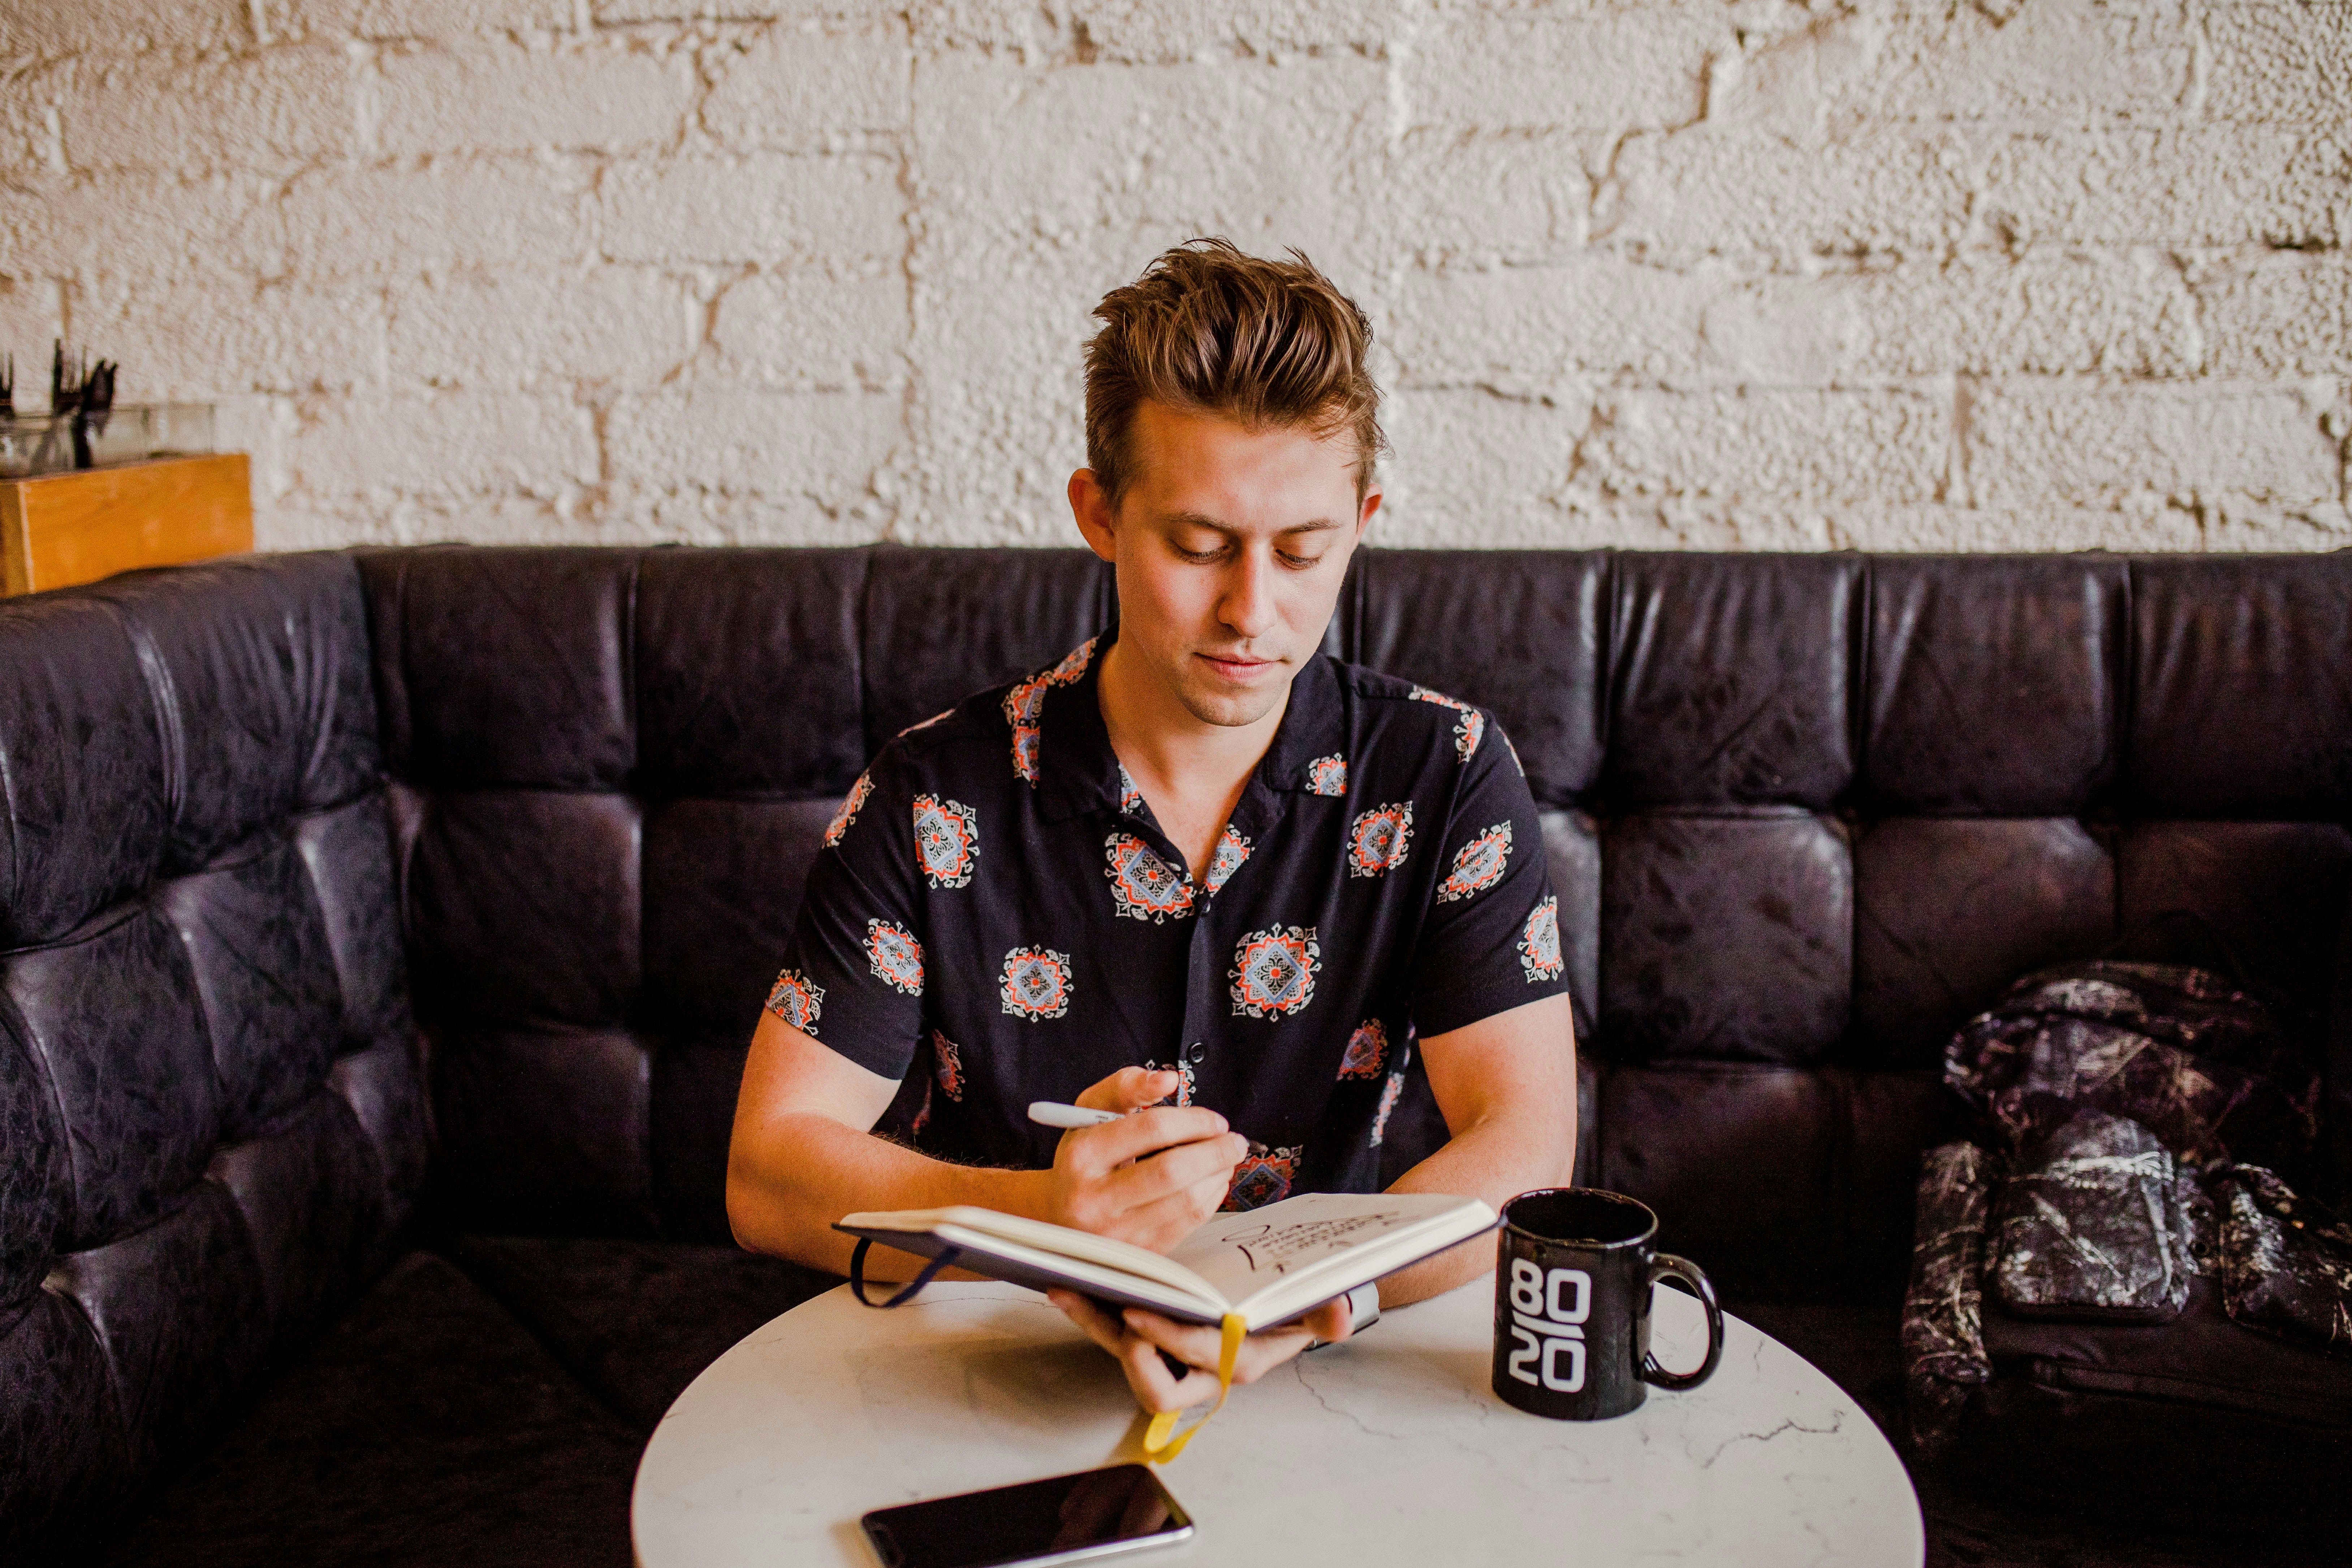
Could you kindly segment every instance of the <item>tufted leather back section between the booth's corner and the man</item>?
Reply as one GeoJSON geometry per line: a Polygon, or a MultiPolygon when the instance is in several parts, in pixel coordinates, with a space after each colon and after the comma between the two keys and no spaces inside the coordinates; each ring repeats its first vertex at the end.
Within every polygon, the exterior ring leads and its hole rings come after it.
{"type": "Polygon", "coordinates": [[[1080,550],[362,552],[435,1213],[727,1239],[736,1081],[840,797],[1110,614],[1080,550]]]}

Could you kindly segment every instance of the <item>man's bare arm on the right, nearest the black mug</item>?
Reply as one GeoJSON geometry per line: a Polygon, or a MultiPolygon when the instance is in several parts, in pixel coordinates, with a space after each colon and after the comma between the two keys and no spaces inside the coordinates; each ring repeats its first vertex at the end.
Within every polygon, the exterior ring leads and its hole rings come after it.
{"type": "MultiPolygon", "coordinates": [[[[1454,1192],[1503,1208],[1529,1187],[1566,1187],[1576,1168],[1576,1023],[1543,997],[1421,1041],[1451,1138],[1390,1192],[1454,1192]]],[[[1439,1295],[1494,1267],[1498,1237],[1423,1258],[1381,1281],[1381,1305],[1439,1295]]]]}

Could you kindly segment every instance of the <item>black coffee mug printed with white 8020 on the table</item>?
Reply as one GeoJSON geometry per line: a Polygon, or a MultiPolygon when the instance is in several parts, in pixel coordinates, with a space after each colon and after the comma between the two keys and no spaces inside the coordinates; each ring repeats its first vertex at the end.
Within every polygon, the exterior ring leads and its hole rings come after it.
{"type": "Polygon", "coordinates": [[[1724,1359],[1724,1309],[1698,1265],[1651,1246],[1658,1215],[1618,1192],[1538,1187],[1503,1204],[1494,1272],[1494,1392],[1555,1420],[1609,1420],[1649,1385],[1696,1389],[1724,1359]],[[1708,1309],[1708,1359],[1670,1373],[1649,1354],[1649,1291],[1672,1274],[1708,1309]]]}

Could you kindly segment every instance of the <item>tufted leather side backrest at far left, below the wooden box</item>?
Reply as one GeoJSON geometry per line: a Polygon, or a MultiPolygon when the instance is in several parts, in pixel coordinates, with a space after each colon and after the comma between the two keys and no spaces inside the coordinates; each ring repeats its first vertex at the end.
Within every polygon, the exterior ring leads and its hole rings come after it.
{"type": "Polygon", "coordinates": [[[5,1542],[341,1309],[426,1124],[348,557],[7,607],[0,783],[5,1542]]]}

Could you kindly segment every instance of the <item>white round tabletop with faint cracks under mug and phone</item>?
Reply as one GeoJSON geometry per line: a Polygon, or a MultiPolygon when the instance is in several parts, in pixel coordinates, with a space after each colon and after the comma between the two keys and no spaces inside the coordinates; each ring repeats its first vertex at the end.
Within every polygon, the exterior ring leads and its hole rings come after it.
{"type": "MultiPolygon", "coordinates": [[[[1778,1340],[1724,1314],[1724,1361],[1632,1415],[1524,1415],[1489,1387],[1494,1276],[1240,1387],[1162,1476],[1200,1526],[1136,1563],[1867,1563],[1919,1568],[1903,1462],[1778,1340]]],[[[1653,1342],[1696,1366],[1698,1302],[1653,1342]]],[[[868,1509],[1134,1460],[1110,1356],[1042,1295],[936,1284],[894,1312],[849,1286],[713,1361],[661,1418],[630,1505],[642,1568],[873,1568],[868,1509]]]]}

